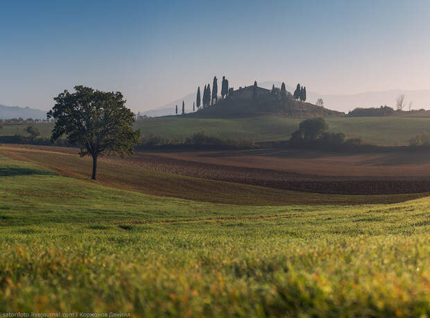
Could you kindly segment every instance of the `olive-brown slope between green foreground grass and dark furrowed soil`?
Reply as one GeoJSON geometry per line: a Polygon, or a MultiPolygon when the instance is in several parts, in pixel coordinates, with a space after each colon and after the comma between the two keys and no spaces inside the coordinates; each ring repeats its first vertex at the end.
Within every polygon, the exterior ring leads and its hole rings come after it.
{"type": "MultiPolygon", "coordinates": [[[[88,178],[91,174],[92,162],[88,157],[79,158],[76,149],[58,147],[57,151],[69,151],[71,153],[59,153],[54,151],[41,151],[37,149],[49,149],[50,147],[33,147],[25,149],[16,147],[0,147],[0,153],[7,154],[19,160],[35,162],[44,167],[59,171],[65,176],[75,178],[88,178]]],[[[133,157],[132,157],[133,158],[133,157]]],[[[139,159],[139,156],[137,156],[139,159]]],[[[141,162],[141,161],[139,161],[141,162]]],[[[209,180],[210,171],[206,170],[205,176],[201,175],[200,167],[193,168],[197,172],[197,178],[167,172],[162,161],[160,169],[150,167],[153,163],[143,167],[136,166],[129,160],[120,158],[101,158],[98,165],[98,183],[117,187],[124,190],[133,190],[145,194],[157,196],[171,196],[193,201],[205,201],[212,203],[239,204],[245,206],[282,206],[282,205],[356,205],[365,203],[394,203],[422,196],[426,193],[388,194],[388,195],[341,195],[320,194],[309,192],[289,191],[273,187],[261,187],[243,183],[209,180]]],[[[189,167],[173,166],[174,169],[182,169],[185,173],[189,167]]],[[[221,170],[221,173],[224,173],[221,170]]],[[[254,171],[251,171],[254,174],[254,171]]],[[[232,180],[233,181],[233,180],[232,180]]],[[[236,182],[241,180],[235,179],[236,182]]]]}

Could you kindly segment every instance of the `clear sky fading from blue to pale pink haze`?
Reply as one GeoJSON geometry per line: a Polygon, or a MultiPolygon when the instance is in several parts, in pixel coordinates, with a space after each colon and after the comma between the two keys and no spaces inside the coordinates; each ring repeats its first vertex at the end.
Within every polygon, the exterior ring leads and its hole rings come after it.
{"type": "Polygon", "coordinates": [[[323,94],[430,89],[430,1],[0,0],[8,106],[46,110],[81,84],[148,110],[214,75],[323,94]]]}

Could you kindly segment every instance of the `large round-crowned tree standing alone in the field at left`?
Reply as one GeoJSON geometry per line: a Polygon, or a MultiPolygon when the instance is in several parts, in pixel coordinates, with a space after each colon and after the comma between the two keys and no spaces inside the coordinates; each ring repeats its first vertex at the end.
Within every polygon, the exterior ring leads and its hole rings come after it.
{"type": "Polygon", "coordinates": [[[80,156],[92,156],[92,179],[96,180],[97,158],[106,153],[124,157],[134,152],[140,131],[133,131],[135,114],[125,106],[121,92],[101,92],[75,86],[55,97],[48,119],[55,119],[51,142],[67,135],[71,144],[80,146],[80,156]]]}

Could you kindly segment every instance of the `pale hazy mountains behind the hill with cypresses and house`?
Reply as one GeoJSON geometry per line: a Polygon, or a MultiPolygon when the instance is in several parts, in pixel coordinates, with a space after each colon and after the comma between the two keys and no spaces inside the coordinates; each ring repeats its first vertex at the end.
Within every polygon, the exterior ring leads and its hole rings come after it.
{"type": "MultiPolygon", "coordinates": [[[[271,89],[272,85],[280,87],[281,84],[282,83],[279,81],[266,81],[259,83],[258,85],[259,87],[271,89]]],[[[239,87],[234,88],[236,89],[239,87]]],[[[287,85],[286,90],[294,92],[295,87],[287,85]]],[[[337,110],[339,112],[349,112],[356,107],[369,108],[386,105],[395,108],[395,100],[401,94],[405,95],[406,110],[408,110],[410,102],[411,109],[430,109],[430,90],[384,90],[380,92],[363,92],[359,94],[330,95],[312,92],[308,88],[307,101],[309,101],[309,103],[316,103],[317,99],[322,99],[324,101],[325,108],[337,110]]],[[[147,115],[150,117],[175,115],[175,105],[178,105],[178,112],[180,112],[182,110],[182,101],[185,103],[185,112],[191,112],[193,110],[193,102],[196,101],[196,93],[187,94],[186,96],[161,106],[160,108],[141,112],[141,115],[147,115]]]]}

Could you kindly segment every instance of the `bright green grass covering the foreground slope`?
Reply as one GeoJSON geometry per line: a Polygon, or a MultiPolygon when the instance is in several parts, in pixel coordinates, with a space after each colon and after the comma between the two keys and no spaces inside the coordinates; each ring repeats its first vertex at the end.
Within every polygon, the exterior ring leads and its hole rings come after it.
{"type": "Polygon", "coordinates": [[[161,198],[0,155],[0,311],[430,315],[430,200],[161,198]]]}

